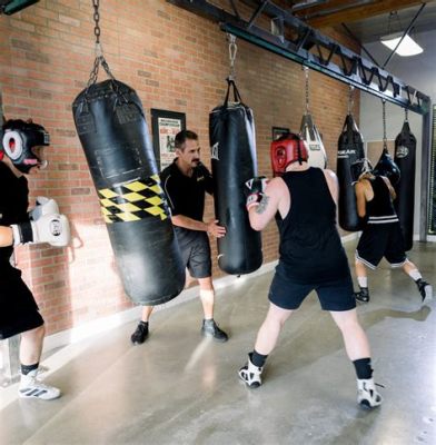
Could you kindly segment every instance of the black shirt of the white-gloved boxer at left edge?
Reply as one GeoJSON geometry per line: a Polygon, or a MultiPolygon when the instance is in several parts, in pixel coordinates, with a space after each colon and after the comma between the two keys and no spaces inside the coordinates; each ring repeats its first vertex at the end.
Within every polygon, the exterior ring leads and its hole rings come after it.
{"type": "MultiPolygon", "coordinates": [[[[28,220],[28,180],[24,176],[17,178],[2,161],[0,161],[0,226],[10,226],[28,220]]],[[[3,270],[1,265],[9,263],[12,253],[11,246],[0,247],[0,275],[3,270]]]]}

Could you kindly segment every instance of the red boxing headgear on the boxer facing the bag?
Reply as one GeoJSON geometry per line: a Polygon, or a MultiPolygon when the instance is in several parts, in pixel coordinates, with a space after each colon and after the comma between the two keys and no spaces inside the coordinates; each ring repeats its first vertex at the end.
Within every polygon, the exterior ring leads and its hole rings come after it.
{"type": "Polygon", "coordinates": [[[270,149],[274,176],[281,176],[293,162],[304,162],[309,158],[306,142],[293,132],[271,142],[270,149]]]}

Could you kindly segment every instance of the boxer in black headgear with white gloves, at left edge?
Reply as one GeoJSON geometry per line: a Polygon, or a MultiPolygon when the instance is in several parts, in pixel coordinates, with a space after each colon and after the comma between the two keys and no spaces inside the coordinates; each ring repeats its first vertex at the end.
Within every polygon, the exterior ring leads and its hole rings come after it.
{"type": "Polygon", "coordinates": [[[47,166],[43,147],[49,145],[44,128],[32,121],[9,120],[2,127],[0,150],[0,339],[21,334],[21,380],[19,396],[52,399],[56,387],[37,378],[44,337],[44,323],[33,295],[13,267],[13,247],[49,243],[63,247],[69,243],[67,217],[59,215],[53,199],[39,197],[28,212],[29,188],[24,175],[34,175],[47,166]],[[6,192],[7,190],[7,192],[6,192]]]}

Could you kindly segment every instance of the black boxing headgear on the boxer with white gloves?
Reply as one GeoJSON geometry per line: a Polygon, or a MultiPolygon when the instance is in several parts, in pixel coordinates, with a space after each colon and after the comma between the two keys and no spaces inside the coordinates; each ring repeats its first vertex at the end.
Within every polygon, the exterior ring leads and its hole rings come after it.
{"type": "Polygon", "coordinates": [[[34,147],[50,145],[50,136],[42,126],[21,119],[8,120],[3,125],[3,131],[4,155],[20,171],[28,174],[34,166],[47,166],[47,161],[33,152],[34,147]]]}

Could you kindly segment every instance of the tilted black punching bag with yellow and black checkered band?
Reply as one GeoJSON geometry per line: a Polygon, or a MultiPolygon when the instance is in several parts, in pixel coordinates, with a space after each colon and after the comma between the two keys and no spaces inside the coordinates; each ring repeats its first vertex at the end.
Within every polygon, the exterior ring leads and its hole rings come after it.
{"type": "Polygon", "coordinates": [[[184,288],[185,268],[141,101],[127,85],[91,85],[72,103],[126,294],[158,305],[184,288]]]}

